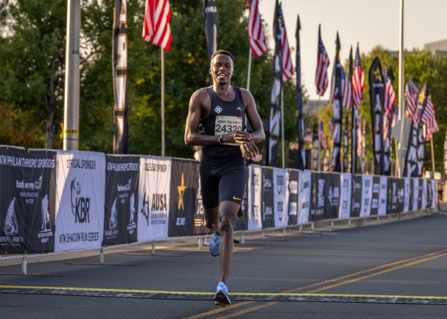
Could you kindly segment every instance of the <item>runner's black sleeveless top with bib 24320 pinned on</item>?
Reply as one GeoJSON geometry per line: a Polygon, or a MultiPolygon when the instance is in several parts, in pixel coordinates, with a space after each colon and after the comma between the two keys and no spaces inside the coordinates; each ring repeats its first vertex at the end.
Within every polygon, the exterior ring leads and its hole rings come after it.
{"type": "MultiPolygon", "coordinates": [[[[245,131],[245,103],[239,87],[233,87],[235,98],[233,101],[223,101],[212,87],[207,87],[211,98],[210,115],[201,119],[204,134],[219,135],[233,131],[245,131]]],[[[203,154],[208,158],[221,156],[242,156],[239,146],[215,144],[202,147],[203,154]]]]}

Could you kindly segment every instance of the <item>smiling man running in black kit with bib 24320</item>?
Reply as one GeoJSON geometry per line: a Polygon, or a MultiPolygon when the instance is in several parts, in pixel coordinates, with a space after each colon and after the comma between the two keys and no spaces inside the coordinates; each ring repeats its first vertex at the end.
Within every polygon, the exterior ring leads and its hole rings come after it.
{"type": "Polygon", "coordinates": [[[219,255],[220,281],[214,304],[230,304],[228,274],[233,258],[233,230],[244,197],[245,159],[254,161],[256,143],[265,139],[253,96],[230,84],[234,57],[219,50],[211,57],[213,85],[198,89],[189,101],[184,142],[201,146],[200,186],[207,228],[214,231],[210,253],[219,255]],[[245,117],[253,133],[246,132],[245,117]],[[203,133],[198,133],[199,125],[203,133]]]}

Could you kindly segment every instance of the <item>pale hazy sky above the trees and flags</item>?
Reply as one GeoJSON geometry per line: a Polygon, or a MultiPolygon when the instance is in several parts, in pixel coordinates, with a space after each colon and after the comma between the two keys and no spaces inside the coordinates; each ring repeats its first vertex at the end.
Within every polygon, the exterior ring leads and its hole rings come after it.
{"type": "MultiPolygon", "coordinates": [[[[376,45],[386,50],[399,50],[400,0],[282,0],[282,10],[288,43],[296,47],[295,31],[300,15],[301,82],[311,99],[318,100],[315,87],[318,24],[321,38],[330,59],[328,77],[332,76],[335,58],[335,38],[339,32],[342,63],[349,59],[353,46],[359,43],[360,54],[376,45]]],[[[275,0],[259,0],[259,13],[264,20],[264,31],[272,40],[275,0]],[[265,24],[268,24],[266,26],[265,24]]],[[[404,0],[404,47],[423,49],[425,43],[447,39],[447,0],[404,0]]],[[[273,40],[272,40],[273,41],[273,40]]],[[[274,43],[267,44],[273,50],[274,43]]],[[[295,51],[292,52],[295,68],[295,51]]],[[[369,66],[362,66],[366,72],[369,66]]],[[[293,75],[295,77],[295,75],[293,75]]],[[[330,87],[323,100],[327,100],[330,87]]]]}

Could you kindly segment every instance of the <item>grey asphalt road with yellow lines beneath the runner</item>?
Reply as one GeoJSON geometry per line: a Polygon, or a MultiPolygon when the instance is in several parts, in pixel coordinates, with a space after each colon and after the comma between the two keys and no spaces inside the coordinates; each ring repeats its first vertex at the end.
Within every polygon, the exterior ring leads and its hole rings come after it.
{"type": "Polygon", "coordinates": [[[447,318],[447,214],[247,235],[225,308],[206,246],[155,245],[0,258],[0,318],[447,318]]]}

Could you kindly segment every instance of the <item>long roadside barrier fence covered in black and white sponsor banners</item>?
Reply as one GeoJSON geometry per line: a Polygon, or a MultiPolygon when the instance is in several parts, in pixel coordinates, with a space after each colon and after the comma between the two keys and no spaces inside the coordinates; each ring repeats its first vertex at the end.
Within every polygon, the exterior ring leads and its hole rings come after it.
{"type": "MultiPolygon", "coordinates": [[[[199,163],[0,147],[0,253],[52,253],[209,234],[199,163]]],[[[437,208],[437,181],[247,166],[235,230],[437,208]]]]}

